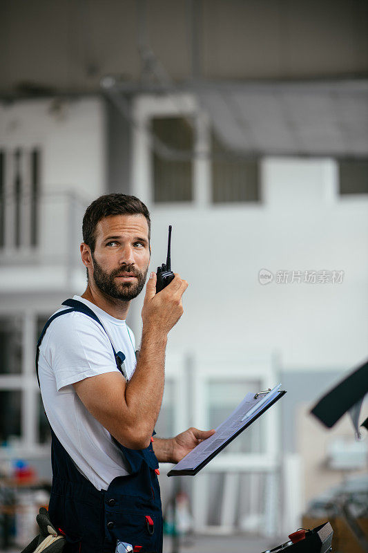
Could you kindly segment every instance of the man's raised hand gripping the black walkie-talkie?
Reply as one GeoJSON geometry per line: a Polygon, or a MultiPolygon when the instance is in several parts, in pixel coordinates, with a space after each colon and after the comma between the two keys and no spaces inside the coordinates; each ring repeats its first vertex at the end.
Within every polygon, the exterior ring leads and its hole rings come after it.
{"type": "Polygon", "coordinates": [[[143,332],[154,330],[167,335],[182,317],[184,309],[182,295],[188,283],[174,273],[170,284],[156,294],[156,274],[151,272],[146,285],[146,295],[142,308],[143,332]]]}

